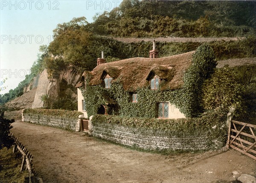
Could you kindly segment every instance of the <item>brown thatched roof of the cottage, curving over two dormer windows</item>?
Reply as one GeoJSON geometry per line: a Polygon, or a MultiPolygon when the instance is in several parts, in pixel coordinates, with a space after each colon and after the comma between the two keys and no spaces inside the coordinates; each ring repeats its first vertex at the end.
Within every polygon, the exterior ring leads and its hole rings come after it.
{"type": "Polygon", "coordinates": [[[91,72],[90,85],[103,82],[108,74],[113,81],[120,80],[126,91],[136,91],[139,87],[149,86],[149,80],[154,75],[164,79],[161,90],[174,90],[183,85],[183,76],[191,64],[192,54],[187,52],[164,58],[128,58],[100,64],[91,72]]]}

